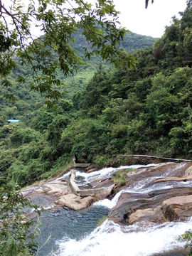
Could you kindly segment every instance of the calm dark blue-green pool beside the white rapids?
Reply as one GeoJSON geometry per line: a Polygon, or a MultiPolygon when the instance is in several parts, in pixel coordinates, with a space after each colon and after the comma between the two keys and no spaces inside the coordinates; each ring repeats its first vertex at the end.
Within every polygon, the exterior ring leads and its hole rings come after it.
{"type": "Polygon", "coordinates": [[[59,240],[79,241],[89,235],[97,223],[109,213],[109,208],[104,206],[92,206],[89,209],[76,212],[68,208],[48,210],[41,215],[41,245],[50,239],[38,252],[38,256],[48,256],[59,248],[59,240]]]}

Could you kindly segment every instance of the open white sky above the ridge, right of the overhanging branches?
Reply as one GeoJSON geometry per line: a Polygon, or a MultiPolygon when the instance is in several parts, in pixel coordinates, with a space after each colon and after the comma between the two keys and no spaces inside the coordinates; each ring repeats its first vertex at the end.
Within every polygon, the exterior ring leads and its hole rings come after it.
{"type": "Polygon", "coordinates": [[[122,27],[134,33],[159,38],[163,36],[165,26],[170,26],[171,17],[186,9],[186,0],[149,0],[145,9],[145,0],[114,0],[115,9],[120,11],[119,22],[122,27]]]}

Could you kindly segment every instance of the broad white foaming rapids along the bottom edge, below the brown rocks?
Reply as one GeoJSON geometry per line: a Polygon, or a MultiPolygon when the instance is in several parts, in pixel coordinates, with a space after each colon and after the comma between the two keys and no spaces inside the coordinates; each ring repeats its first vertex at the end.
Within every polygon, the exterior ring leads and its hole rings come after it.
{"type": "Polygon", "coordinates": [[[106,220],[100,228],[80,241],[58,241],[58,256],[150,256],[183,247],[178,236],[192,228],[192,220],[186,223],[164,223],[139,228],[139,225],[121,227],[106,220]],[[137,230],[137,231],[135,231],[137,230]]]}

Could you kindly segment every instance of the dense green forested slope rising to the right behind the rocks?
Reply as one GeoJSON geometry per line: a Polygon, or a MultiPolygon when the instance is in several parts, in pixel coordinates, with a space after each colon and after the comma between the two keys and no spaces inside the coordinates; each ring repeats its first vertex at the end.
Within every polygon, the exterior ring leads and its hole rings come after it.
{"type": "Polygon", "coordinates": [[[58,110],[36,103],[36,117],[1,127],[1,137],[10,134],[1,139],[1,174],[24,186],[54,174],[73,154],[100,167],[118,154],[191,159],[191,38],[188,1],[162,38],[134,51],[135,69],[100,64],[58,110]]]}

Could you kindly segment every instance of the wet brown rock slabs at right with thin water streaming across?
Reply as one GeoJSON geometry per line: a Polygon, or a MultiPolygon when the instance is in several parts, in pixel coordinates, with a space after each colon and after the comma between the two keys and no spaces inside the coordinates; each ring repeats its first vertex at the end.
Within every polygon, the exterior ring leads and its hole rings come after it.
{"type": "Polygon", "coordinates": [[[192,216],[192,163],[161,164],[127,174],[124,192],[110,210],[114,222],[186,220],[192,216]]]}

